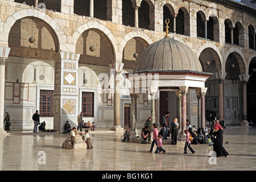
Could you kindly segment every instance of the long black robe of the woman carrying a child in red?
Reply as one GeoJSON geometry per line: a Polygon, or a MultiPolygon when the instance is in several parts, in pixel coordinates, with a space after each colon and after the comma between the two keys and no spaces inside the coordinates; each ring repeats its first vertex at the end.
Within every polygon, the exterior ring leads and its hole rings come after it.
{"type": "Polygon", "coordinates": [[[225,148],[222,146],[223,144],[223,130],[218,130],[217,131],[217,137],[214,138],[214,143],[213,143],[213,151],[216,152],[217,157],[221,156],[228,156],[229,153],[225,150],[225,148]]]}

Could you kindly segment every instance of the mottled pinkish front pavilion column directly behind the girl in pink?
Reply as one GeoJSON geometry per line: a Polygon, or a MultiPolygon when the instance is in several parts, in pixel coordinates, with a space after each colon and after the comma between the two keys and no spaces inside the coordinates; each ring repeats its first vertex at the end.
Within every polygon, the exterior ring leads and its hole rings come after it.
{"type": "Polygon", "coordinates": [[[187,120],[187,100],[186,95],[188,93],[188,86],[180,86],[181,93],[181,133],[184,134],[187,120]]]}

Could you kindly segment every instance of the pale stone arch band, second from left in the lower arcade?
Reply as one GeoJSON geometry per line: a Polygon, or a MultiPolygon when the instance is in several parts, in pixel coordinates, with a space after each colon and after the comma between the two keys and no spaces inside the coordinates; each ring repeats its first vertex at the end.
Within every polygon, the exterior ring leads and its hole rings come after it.
{"type": "Polygon", "coordinates": [[[77,40],[79,39],[80,35],[89,29],[94,28],[94,30],[100,30],[102,34],[106,35],[106,38],[108,38],[110,44],[112,45],[113,52],[114,52],[114,59],[115,60],[122,60],[122,52],[118,51],[118,40],[115,38],[115,36],[112,34],[112,32],[109,30],[108,27],[104,26],[103,24],[99,22],[87,22],[84,24],[81,24],[79,27],[77,27],[76,31],[72,35],[72,37],[75,39],[74,44],[77,44],[77,40]]]}

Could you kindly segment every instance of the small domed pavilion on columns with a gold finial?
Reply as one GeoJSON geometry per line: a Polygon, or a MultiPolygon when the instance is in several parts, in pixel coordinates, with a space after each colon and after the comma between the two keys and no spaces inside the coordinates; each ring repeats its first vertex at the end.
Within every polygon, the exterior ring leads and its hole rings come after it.
{"type": "MultiPolygon", "coordinates": [[[[192,49],[171,38],[168,28],[166,30],[163,39],[152,43],[140,53],[133,72],[126,73],[130,81],[132,131],[135,131],[137,94],[148,92],[150,95],[151,121],[155,123],[155,100],[162,91],[176,93],[179,129],[184,131],[187,119],[186,94],[188,90],[195,90],[198,104],[193,109],[197,109],[198,126],[205,127],[205,81],[213,74],[203,72],[199,58],[192,49]]],[[[160,121],[162,116],[159,115],[160,121]]]]}

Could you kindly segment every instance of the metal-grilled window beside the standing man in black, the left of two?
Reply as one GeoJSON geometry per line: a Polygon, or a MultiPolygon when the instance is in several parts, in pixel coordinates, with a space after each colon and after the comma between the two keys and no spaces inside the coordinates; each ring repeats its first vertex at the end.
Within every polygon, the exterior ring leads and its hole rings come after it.
{"type": "Polygon", "coordinates": [[[54,102],[53,102],[54,90],[40,90],[40,117],[53,117],[54,102]]]}

